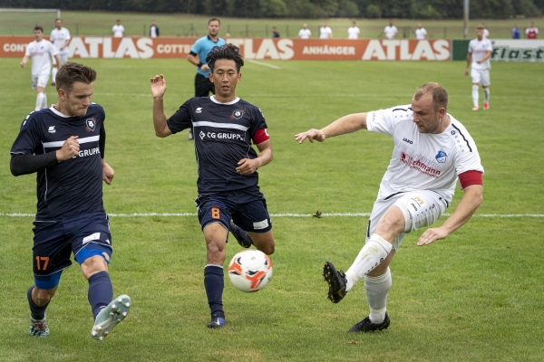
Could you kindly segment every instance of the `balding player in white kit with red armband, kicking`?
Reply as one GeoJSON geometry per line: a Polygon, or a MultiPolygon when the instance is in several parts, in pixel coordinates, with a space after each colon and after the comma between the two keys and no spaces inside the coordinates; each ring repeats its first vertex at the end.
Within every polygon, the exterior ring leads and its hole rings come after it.
{"type": "Polygon", "coordinates": [[[436,222],[452,202],[457,180],[464,195],[451,216],[437,228],[427,229],[417,245],[444,239],[474,214],[482,201],[483,167],[469,132],[447,113],[448,93],[438,83],[424,84],[412,104],[350,114],[326,126],[296,135],[299,143],[323,142],[325,138],[359,129],[385,133],[393,138],[393,157],[380,184],[366,230],[366,243],[345,273],[325,262],[328,298],[345,297],[364,278],[370,315],[349,332],[387,329],[387,294],[391,289],[389,264],[406,233],[436,222]]]}

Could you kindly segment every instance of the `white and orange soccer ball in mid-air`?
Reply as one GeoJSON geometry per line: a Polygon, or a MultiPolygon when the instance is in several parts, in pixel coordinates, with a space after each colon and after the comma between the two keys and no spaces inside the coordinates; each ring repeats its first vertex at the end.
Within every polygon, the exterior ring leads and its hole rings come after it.
{"type": "Polygon", "coordinates": [[[258,250],[238,252],[228,264],[228,279],[238,291],[260,291],[271,278],[272,262],[266,253],[258,250]]]}

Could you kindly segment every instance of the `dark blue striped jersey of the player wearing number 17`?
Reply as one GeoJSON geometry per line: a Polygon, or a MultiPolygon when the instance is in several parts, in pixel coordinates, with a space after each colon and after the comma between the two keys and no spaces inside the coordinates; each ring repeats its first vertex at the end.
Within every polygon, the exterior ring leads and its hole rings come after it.
{"type": "Polygon", "coordinates": [[[58,220],[79,214],[104,213],[100,129],[105,113],[91,103],[84,117],[68,117],[53,107],[30,113],[24,119],[12,154],[43,155],[78,136],[78,157],[37,172],[36,220],[58,220]]]}

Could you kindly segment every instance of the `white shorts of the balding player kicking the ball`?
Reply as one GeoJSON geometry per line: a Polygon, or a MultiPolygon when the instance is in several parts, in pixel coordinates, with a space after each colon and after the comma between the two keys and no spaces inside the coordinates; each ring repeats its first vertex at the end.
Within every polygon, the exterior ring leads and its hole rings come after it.
{"type": "Polygon", "coordinates": [[[412,191],[395,195],[387,200],[376,200],[368,220],[366,241],[374,233],[382,216],[393,205],[401,209],[405,223],[404,232],[394,238],[394,250],[398,250],[407,233],[434,224],[449,206],[441,195],[429,190],[412,191]]]}

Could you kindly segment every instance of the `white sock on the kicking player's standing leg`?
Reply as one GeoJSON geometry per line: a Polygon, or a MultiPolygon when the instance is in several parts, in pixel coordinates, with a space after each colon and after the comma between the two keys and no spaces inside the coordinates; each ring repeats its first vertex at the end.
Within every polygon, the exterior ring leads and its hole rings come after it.
{"type": "Polygon", "coordinates": [[[387,293],[391,290],[391,271],[387,268],[384,274],[378,277],[366,275],[364,277],[364,291],[370,307],[370,321],[380,324],[385,319],[387,293]]]}

